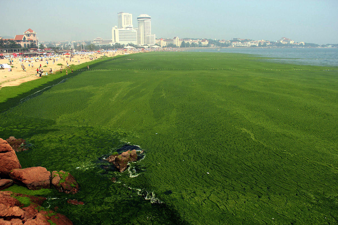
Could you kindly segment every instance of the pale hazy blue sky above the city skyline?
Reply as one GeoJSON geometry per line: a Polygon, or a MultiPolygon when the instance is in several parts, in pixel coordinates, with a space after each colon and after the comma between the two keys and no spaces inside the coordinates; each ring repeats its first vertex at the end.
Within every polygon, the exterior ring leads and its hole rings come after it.
{"type": "Polygon", "coordinates": [[[338,43],[338,0],[1,0],[0,36],[22,34],[28,28],[39,40],[112,38],[117,13],[151,16],[156,38],[234,37],[254,40],[338,43]]]}

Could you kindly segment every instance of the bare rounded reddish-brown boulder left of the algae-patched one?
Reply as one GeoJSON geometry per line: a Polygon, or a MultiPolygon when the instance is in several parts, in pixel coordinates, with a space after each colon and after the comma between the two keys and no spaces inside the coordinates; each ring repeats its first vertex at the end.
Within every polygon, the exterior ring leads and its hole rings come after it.
{"type": "Polygon", "coordinates": [[[46,168],[41,166],[13,169],[9,177],[16,184],[26,186],[30,190],[50,188],[51,174],[46,168]]]}

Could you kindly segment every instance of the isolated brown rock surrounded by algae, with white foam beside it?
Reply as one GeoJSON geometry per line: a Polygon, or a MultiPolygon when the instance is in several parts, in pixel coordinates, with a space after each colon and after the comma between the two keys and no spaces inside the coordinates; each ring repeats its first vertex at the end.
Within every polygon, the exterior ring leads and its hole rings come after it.
{"type": "Polygon", "coordinates": [[[115,152],[115,154],[112,154],[107,158],[107,160],[113,163],[116,169],[118,169],[120,172],[123,172],[127,169],[129,162],[137,161],[137,152],[135,149],[132,151],[128,150],[122,152],[121,154],[115,152]]]}

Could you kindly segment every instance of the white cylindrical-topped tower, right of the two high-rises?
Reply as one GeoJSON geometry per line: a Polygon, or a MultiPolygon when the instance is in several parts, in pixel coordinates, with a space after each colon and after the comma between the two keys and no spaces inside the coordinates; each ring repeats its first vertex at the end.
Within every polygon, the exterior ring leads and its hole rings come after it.
{"type": "Polygon", "coordinates": [[[141,14],[137,17],[137,44],[155,45],[155,34],[151,34],[151,17],[141,14]]]}

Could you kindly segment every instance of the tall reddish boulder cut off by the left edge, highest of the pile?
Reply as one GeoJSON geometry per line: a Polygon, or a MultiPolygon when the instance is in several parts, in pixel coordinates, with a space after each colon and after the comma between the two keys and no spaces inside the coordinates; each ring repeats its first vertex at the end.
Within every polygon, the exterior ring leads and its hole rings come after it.
{"type": "Polygon", "coordinates": [[[9,171],[21,169],[20,162],[15,151],[7,141],[0,138],[0,176],[9,177],[9,171]]]}

